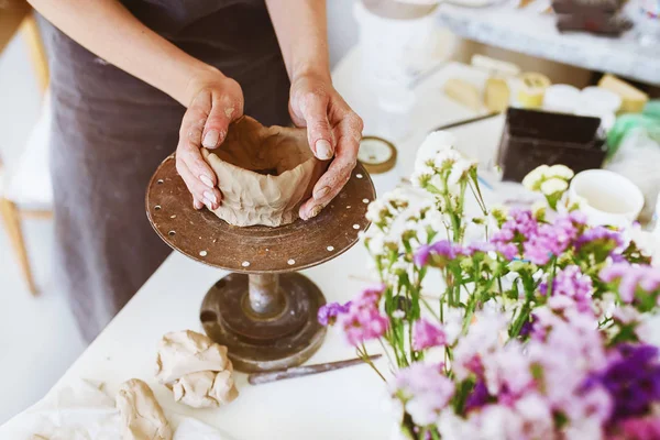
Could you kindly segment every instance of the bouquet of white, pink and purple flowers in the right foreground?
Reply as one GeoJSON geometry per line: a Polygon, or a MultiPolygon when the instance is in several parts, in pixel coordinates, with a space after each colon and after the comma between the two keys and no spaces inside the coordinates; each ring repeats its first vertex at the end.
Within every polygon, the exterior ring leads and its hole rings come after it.
{"type": "Polygon", "coordinates": [[[475,163],[437,132],[413,176],[430,201],[395,190],[370,206],[381,283],[319,320],[365,361],[382,343],[391,371],[371,366],[398,438],[660,439],[660,271],[626,231],[587,224],[572,176],[542,166],[524,182],[542,204],[488,208],[475,163]]]}

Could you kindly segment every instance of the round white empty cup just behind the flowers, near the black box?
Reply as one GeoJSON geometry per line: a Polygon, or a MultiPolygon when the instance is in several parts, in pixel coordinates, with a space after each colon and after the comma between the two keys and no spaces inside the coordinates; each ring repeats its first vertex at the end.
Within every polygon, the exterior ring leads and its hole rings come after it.
{"type": "Polygon", "coordinates": [[[644,208],[644,195],[637,185],[607,169],[578,173],[569,197],[581,202],[581,211],[592,226],[627,228],[644,208]]]}

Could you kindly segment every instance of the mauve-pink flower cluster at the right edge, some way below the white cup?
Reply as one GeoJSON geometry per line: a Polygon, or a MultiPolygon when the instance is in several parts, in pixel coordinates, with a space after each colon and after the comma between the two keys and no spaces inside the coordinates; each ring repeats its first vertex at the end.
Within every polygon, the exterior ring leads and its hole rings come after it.
{"type": "Polygon", "coordinates": [[[635,301],[638,289],[647,294],[660,290],[660,270],[652,266],[637,266],[628,263],[615,263],[601,271],[601,279],[605,283],[618,283],[622,301],[635,301]]]}

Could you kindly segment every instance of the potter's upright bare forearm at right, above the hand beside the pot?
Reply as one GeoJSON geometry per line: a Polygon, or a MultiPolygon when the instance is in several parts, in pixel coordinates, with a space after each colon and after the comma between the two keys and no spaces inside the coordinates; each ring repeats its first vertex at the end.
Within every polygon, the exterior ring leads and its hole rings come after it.
{"type": "Polygon", "coordinates": [[[266,0],[289,78],[330,77],[326,0],[266,0]]]}

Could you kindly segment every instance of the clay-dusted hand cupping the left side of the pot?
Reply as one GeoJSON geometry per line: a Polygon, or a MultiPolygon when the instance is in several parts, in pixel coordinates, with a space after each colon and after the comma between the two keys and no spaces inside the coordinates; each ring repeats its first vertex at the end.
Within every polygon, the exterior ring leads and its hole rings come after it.
{"type": "Polygon", "coordinates": [[[243,91],[233,79],[209,69],[190,81],[187,95],[190,103],[179,131],[176,170],[193,194],[195,209],[218,209],[222,194],[200,148],[217,148],[224,141],[229,124],[243,114],[243,91]]]}

